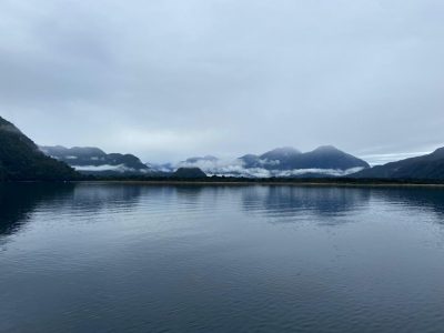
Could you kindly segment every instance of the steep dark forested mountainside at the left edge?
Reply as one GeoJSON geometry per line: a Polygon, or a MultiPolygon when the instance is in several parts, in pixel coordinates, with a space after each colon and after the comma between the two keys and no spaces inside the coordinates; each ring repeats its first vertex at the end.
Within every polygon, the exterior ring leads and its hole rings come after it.
{"type": "Polygon", "coordinates": [[[46,157],[31,139],[0,117],[0,180],[56,181],[79,176],[65,163],[46,157]]]}

